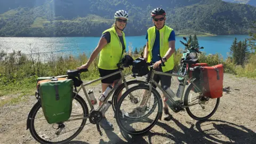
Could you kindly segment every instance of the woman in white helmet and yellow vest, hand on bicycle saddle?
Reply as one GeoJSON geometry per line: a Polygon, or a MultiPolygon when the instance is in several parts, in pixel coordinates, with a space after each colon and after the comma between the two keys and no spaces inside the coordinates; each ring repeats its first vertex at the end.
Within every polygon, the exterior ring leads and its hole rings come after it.
{"type": "MultiPolygon", "coordinates": [[[[115,13],[114,17],[114,25],[111,28],[103,31],[99,44],[92,52],[89,60],[77,69],[89,68],[92,61],[97,57],[100,52],[100,58],[98,63],[100,76],[103,77],[118,70],[116,65],[123,57],[123,53],[126,48],[125,35],[123,30],[126,26],[129,15],[126,11],[119,10],[115,13]]],[[[109,85],[112,85],[114,87],[119,78],[121,78],[121,75],[116,74],[111,77],[102,79],[102,92],[104,92],[109,85]]],[[[99,105],[101,104],[102,102],[100,101],[99,105]]],[[[113,125],[107,121],[105,115],[103,115],[103,118],[99,124],[103,129],[111,129],[113,127],[113,125]]]]}

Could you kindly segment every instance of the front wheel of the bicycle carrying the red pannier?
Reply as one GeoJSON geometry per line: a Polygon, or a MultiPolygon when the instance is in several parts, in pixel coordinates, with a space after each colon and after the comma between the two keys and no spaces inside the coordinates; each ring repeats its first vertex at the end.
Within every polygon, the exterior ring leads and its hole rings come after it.
{"type": "Polygon", "coordinates": [[[150,94],[148,92],[149,85],[137,85],[127,90],[119,99],[116,111],[120,111],[120,113],[115,113],[115,117],[122,131],[129,134],[146,133],[162,116],[163,103],[160,94],[154,87],[150,94]],[[145,92],[147,93],[146,97],[145,92]],[[132,103],[128,98],[130,93],[143,99],[143,105],[142,103],[132,103]]]}

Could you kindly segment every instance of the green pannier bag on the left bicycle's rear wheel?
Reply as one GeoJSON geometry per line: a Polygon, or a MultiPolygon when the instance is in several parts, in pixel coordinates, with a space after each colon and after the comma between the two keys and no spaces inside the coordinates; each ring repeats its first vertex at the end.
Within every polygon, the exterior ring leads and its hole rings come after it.
{"type": "Polygon", "coordinates": [[[67,121],[71,115],[73,80],[57,80],[39,84],[41,105],[49,124],[67,121]]]}

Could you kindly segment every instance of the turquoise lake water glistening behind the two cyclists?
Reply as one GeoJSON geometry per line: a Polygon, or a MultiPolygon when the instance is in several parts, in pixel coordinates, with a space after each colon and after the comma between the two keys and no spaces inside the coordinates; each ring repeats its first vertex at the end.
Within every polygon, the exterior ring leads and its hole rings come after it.
{"type": "MultiPolygon", "coordinates": [[[[201,51],[207,54],[220,53],[223,58],[227,58],[229,48],[235,37],[238,41],[244,41],[249,38],[248,35],[221,35],[198,37],[199,46],[203,46],[201,51]]],[[[0,37],[0,49],[11,52],[21,50],[23,53],[68,53],[78,55],[85,53],[90,56],[92,51],[98,45],[100,37],[0,37]]],[[[188,37],[187,37],[188,39],[188,37]]],[[[176,37],[175,48],[184,49],[179,42],[183,41],[182,37],[176,37]]],[[[146,44],[145,35],[143,36],[126,36],[126,45],[131,46],[133,51],[135,47],[140,48],[146,44]]]]}

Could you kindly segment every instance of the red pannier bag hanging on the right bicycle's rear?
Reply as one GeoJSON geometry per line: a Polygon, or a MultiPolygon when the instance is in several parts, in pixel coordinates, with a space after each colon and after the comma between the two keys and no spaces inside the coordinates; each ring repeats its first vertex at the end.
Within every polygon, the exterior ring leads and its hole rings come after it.
{"type": "Polygon", "coordinates": [[[222,97],[223,65],[201,68],[201,85],[204,97],[211,99],[222,97]]]}

